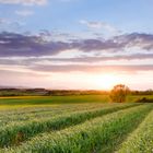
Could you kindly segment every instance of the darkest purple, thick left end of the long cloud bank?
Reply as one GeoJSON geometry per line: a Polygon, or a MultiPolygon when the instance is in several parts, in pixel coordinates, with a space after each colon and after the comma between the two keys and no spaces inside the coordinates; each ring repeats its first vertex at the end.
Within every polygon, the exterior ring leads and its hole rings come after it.
{"type": "Polygon", "coordinates": [[[56,55],[69,48],[67,43],[46,42],[40,36],[26,36],[7,32],[0,34],[0,42],[3,42],[0,44],[1,57],[40,57],[56,55]]]}

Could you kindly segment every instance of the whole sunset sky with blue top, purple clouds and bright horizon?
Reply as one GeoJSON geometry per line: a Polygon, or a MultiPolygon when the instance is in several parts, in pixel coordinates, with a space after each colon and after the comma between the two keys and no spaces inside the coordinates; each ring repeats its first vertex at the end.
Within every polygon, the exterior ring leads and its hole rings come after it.
{"type": "Polygon", "coordinates": [[[153,0],[0,0],[0,86],[153,89],[153,0]]]}

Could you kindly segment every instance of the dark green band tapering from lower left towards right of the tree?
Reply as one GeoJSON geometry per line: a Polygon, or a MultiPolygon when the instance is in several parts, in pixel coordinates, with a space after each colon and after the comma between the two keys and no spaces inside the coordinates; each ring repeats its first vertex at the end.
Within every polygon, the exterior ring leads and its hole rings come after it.
{"type": "Polygon", "coordinates": [[[60,130],[70,126],[81,123],[85,120],[114,113],[120,109],[138,106],[140,104],[125,104],[116,107],[98,108],[96,110],[86,110],[61,115],[55,118],[43,118],[25,122],[12,122],[0,128],[0,146],[20,144],[20,142],[30,139],[40,132],[60,130]]]}

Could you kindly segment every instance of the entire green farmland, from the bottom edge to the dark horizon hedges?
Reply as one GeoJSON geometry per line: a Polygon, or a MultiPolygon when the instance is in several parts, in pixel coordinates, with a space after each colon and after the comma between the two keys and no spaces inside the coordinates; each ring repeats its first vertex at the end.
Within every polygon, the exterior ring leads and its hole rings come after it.
{"type": "Polygon", "coordinates": [[[0,153],[152,153],[153,104],[140,97],[1,97],[0,153]]]}

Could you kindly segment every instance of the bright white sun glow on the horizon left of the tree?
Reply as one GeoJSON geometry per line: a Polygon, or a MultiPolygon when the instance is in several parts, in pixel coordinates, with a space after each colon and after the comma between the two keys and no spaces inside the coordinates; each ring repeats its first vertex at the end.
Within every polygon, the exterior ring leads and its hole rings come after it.
{"type": "MultiPolygon", "coordinates": [[[[48,78],[50,80],[50,78],[48,78]]],[[[78,90],[111,90],[116,84],[123,83],[125,76],[117,73],[67,73],[62,75],[56,75],[57,80],[51,80],[56,85],[60,83],[61,86],[67,86],[67,89],[78,89],[78,90]],[[64,81],[59,82],[64,78],[64,81]],[[69,81],[69,82],[68,82],[69,81]],[[73,86],[71,86],[73,84],[73,86]]],[[[51,85],[54,85],[51,83],[51,85]]]]}

